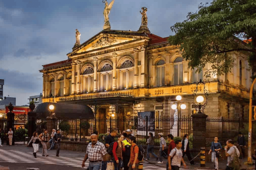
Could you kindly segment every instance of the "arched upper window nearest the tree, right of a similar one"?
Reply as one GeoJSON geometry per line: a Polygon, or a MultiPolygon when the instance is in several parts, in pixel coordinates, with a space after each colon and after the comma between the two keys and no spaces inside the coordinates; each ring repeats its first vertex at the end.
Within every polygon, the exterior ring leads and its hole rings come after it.
{"type": "Polygon", "coordinates": [[[182,57],[174,60],[174,85],[183,84],[183,64],[182,57]]]}

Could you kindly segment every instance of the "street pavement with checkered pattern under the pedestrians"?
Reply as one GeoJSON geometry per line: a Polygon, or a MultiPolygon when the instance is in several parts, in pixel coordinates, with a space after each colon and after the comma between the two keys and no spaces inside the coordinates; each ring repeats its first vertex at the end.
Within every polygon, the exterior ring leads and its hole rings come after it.
{"type": "MultiPolygon", "coordinates": [[[[26,145],[4,145],[0,147],[0,166],[9,167],[10,170],[27,170],[28,168],[38,168],[40,170],[81,170],[85,152],[60,150],[60,156],[56,157],[56,150],[47,150],[49,156],[42,156],[42,148],[37,152],[37,158],[33,156],[33,148],[26,145]]],[[[205,167],[200,167],[200,159],[195,159],[196,165],[190,165],[185,156],[187,164],[186,169],[212,169],[214,170],[214,163],[206,162],[205,167]]],[[[144,170],[166,170],[167,159],[163,159],[164,163],[157,163],[155,158],[150,161],[144,161],[144,170]]],[[[246,159],[242,160],[245,162],[246,159]]],[[[226,159],[219,160],[219,169],[226,168],[226,159]]],[[[89,162],[86,161],[85,167],[88,167],[89,162]]],[[[182,170],[183,167],[181,167],[182,170]]],[[[242,169],[254,169],[255,166],[243,165],[242,169]]]]}

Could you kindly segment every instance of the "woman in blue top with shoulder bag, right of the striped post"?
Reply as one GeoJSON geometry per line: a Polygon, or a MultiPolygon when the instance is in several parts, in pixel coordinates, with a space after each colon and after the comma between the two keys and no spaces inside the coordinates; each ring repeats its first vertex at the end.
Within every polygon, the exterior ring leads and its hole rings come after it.
{"type": "Polygon", "coordinates": [[[214,142],[211,144],[211,149],[209,151],[209,155],[212,152],[212,162],[215,163],[214,167],[215,170],[219,170],[219,164],[218,164],[218,159],[220,157],[220,149],[222,149],[220,142],[218,142],[219,138],[214,137],[214,142]]]}

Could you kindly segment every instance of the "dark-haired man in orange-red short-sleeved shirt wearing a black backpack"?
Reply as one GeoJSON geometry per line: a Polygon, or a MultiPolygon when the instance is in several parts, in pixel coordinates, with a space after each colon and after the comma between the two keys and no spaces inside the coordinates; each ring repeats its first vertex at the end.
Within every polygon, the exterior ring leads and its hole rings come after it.
{"type": "Polygon", "coordinates": [[[128,142],[131,144],[131,155],[128,163],[129,170],[138,170],[139,168],[139,146],[136,145],[136,138],[134,136],[128,137],[128,142]]]}

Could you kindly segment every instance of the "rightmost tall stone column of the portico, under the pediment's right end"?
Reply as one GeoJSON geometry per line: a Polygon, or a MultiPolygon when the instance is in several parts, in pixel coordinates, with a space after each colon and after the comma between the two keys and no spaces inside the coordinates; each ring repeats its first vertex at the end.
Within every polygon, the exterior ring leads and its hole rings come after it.
{"type": "Polygon", "coordinates": [[[146,87],[147,58],[145,57],[145,47],[144,46],[141,47],[140,59],[141,59],[140,87],[146,87]]]}

